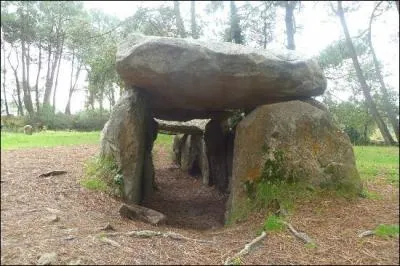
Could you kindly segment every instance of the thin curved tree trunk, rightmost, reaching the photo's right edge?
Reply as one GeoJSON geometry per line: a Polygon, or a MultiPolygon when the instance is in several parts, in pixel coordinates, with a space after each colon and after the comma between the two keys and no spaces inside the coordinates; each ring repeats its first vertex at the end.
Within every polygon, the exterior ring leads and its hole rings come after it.
{"type": "Polygon", "coordinates": [[[372,30],[371,30],[372,20],[374,17],[374,12],[377,7],[378,7],[378,5],[375,7],[374,11],[372,12],[371,18],[369,20],[368,44],[369,44],[369,48],[371,49],[371,54],[372,54],[372,58],[373,58],[374,65],[375,65],[375,71],[378,76],[379,83],[381,85],[380,89],[381,89],[382,96],[383,96],[382,98],[383,98],[384,110],[389,118],[390,124],[393,127],[394,133],[396,134],[396,139],[397,139],[397,141],[399,141],[399,120],[397,120],[396,112],[394,112],[391,108],[391,104],[389,101],[389,95],[387,93],[385,82],[383,81],[382,72],[381,72],[381,69],[379,66],[379,61],[378,61],[378,58],[376,57],[374,46],[372,45],[372,30]]]}

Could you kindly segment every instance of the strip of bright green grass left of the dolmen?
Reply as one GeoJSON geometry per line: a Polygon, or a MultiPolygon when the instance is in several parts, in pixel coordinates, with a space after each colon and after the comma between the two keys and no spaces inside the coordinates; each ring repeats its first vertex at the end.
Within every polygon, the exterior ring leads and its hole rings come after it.
{"type": "Polygon", "coordinates": [[[99,140],[99,131],[42,131],[33,133],[32,135],[1,132],[1,149],[10,150],[61,145],[96,144],[99,143],[99,140]]]}

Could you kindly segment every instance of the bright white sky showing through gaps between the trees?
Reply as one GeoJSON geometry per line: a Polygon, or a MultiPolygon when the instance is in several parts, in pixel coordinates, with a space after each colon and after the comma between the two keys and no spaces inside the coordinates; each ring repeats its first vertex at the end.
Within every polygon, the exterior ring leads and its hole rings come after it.
{"type": "MultiPolygon", "coordinates": [[[[209,1],[196,1],[196,12],[200,14],[201,19],[209,24],[204,32],[208,32],[207,36],[201,37],[205,40],[219,41],[219,35],[223,29],[222,25],[214,18],[226,18],[229,16],[229,9],[217,12],[213,17],[207,16],[204,9],[209,1]]],[[[105,13],[115,15],[120,19],[127,18],[135,13],[137,8],[157,7],[161,3],[173,6],[172,1],[85,1],[84,7],[87,9],[101,9],[105,13]]],[[[236,1],[240,7],[244,1],[236,1]]],[[[344,2],[345,5],[345,2],[344,2]]],[[[227,5],[226,5],[227,6],[227,5]]],[[[357,12],[346,15],[350,34],[357,35],[359,30],[366,29],[368,26],[369,16],[373,8],[373,2],[361,2],[361,9],[357,12]]],[[[184,19],[185,27],[190,28],[190,1],[180,2],[181,15],[184,19]]],[[[302,27],[296,32],[295,42],[296,50],[307,57],[316,56],[321,50],[330,43],[343,37],[342,29],[338,17],[330,17],[327,15],[329,7],[327,2],[303,2],[302,11],[295,12],[296,25],[302,27]]],[[[282,21],[280,28],[277,29],[278,35],[276,40],[270,44],[271,47],[285,46],[285,29],[284,29],[284,11],[280,9],[277,19],[282,21]]],[[[394,42],[393,35],[398,34],[399,16],[396,8],[385,13],[373,25],[373,45],[376,50],[377,57],[384,63],[384,73],[391,75],[386,77],[385,81],[396,88],[399,88],[399,44],[394,42]]],[[[70,65],[64,63],[60,70],[60,78],[58,85],[58,97],[56,99],[57,110],[64,111],[69,86],[70,65]]],[[[78,82],[79,86],[84,86],[85,76],[81,75],[78,82]]],[[[328,82],[328,88],[332,86],[328,82]]],[[[349,95],[336,95],[337,98],[345,100],[349,95]]],[[[76,113],[84,108],[85,94],[77,91],[72,98],[71,111],[76,113]]]]}

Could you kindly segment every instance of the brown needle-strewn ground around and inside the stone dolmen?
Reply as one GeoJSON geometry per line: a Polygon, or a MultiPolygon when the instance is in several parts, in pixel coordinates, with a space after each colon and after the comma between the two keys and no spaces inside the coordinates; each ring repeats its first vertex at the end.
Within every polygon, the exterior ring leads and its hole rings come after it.
{"type": "MultiPolygon", "coordinates": [[[[145,202],[167,214],[166,225],[151,226],[121,218],[121,204],[109,195],[79,185],[85,161],[97,145],[1,151],[1,264],[35,264],[43,253],[56,252],[56,264],[223,264],[256,237],[261,215],[223,227],[226,196],[204,187],[170,163],[168,152],[155,152],[159,191],[145,202]],[[38,177],[52,170],[65,175],[38,177]],[[52,221],[54,215],[59,220],[52,221]],[[211,243],[164,237],[107,236],[101,228],[111,224],[117,232],[154,230],[176,232],[211,243]],[[104,235],[103,235],[104,236],[104,235]]],[[[268,233],[243,264],[399,264],[398,239],[358,233],[378,224],[399,223],[399,189],[383,179],[368,190],[381,199],[347,201],[327,195],[298,204],[289,218],[306,232],[316,248],[306,247],[290,232],[268,233]]]]}

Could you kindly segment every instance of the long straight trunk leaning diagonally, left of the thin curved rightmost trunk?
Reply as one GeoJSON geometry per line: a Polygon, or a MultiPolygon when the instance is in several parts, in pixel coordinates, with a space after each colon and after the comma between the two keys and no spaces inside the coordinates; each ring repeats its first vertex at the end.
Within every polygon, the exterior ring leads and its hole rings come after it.
{"type": "Polygon", "coordinates": [[[342,8],[342,1],[338,1],[338,15],[339,15],[342,27],[343,27],[344,34],[346,36],[347,45],[350,49],[351,59],[353,61],[354,68],[356,70],[357,78],[358,78],[358,81],[360,82],[361,89],[363,91],[367,105],[371,111],[371,114],[372,114],[376,124],[378,125],[378,128],[379,128],[383,138],[385,139],[385,143],[388,145],[393,145],[394,144],[393,138],[390,135],[386,124],[383,122],[382,117],[378,113],[375,102],[373,101],[371,94],[370,94],[370,88],[368,87],[367,82],[365,81],[364,75],[361,70],[360,63],[358,62],[357,54],[354,49],[353,42],[351,41],[349,30],[347,29],[346,20],[344,17],[344,11],[342,8]]]}

